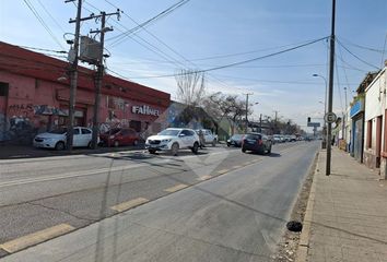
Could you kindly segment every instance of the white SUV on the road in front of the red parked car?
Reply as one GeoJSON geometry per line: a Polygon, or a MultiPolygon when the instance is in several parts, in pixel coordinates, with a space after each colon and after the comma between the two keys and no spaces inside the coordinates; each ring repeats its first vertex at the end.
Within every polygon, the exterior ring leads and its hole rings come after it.
{"type": "Polygon", "coordinates": [[[173,155],[183,148],[189,148],[194,154],[199,150],[199,136],[192,129],[168,128],[157,135],[149,136],[145,148],[154,154],[156,151],[169,151],[173,155]]]}

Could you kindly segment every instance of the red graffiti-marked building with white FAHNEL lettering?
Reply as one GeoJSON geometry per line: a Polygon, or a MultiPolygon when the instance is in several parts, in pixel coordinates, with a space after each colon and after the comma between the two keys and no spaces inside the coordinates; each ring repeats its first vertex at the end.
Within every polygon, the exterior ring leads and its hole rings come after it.
{"type": "MultiPolygon", "coordinates": [[[[0,141],[13,141],[66,126],[69,63],[0,41],[0,141]]],[[[91,127],[95,71],[79,67],[75,126],[91,127]]],[[[99,130],[130,127],[148,135],[166,126],[171,95],[105,74],[99,130]]]]}

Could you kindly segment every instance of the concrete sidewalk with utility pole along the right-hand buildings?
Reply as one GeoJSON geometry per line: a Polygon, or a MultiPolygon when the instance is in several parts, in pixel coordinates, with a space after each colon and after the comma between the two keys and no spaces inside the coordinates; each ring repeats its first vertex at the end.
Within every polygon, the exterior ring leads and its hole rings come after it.
{"type": "Polygon", "coordinates": [[[387,262],[387,182],[333,148],[331,176],[321,151],[296,261],[387,262]]]}

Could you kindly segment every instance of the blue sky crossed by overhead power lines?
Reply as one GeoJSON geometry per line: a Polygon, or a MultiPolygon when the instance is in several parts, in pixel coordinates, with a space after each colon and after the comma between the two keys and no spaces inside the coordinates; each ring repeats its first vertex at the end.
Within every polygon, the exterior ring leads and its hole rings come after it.
{"type": "MultiPolygon", "coordinates": [[[[61,0],[28,0],[55,37],[34,16],[25,1],[0,1],[0,40],[20,46],[67,50],[64,33],[73,33],[75,7],[61,0]],[[56,38],[57,40],[55,40],[56,38]],[[61,46],[59,46],[59,44],[61,46]]],[[[175,97],[174,78],[149,78],[173,74],[181,68],[209,69],[295,47],[330,34],[330,0],[190,0],[168,15],[125,37],[114,39],[122,31],[137,26],[178,0],[86,0],[83,16],[90,11],[125,13],[120,21],[108,20],[114,32],[106,35],[105,47],[112,55],[107,68],[134,82],[165,91],[175,97]],[[112,3],[112,4],[109,4],[112,3]],[[96,8],[96,9],[95,9],[96,8]]],[[[344,107],[366,72],[375,71],[387,59],[386,0],[337,0],[337,69],[335,71],[335,110],[344,107]],[[374,67],[372,67],[374,66],[374,67]]],[[[82,34],[99,26],[94,21],[82,24],[82,34]]],[[[71,38],[71,35],[68,35],[71,38]]],[[[208,93],[253,93],[254,118],[259,114],[306,124],[308,116],[318,120],[324,112],[327,78],[328,43],[310,46],[238,67],[207,74],[208,93]]]]}

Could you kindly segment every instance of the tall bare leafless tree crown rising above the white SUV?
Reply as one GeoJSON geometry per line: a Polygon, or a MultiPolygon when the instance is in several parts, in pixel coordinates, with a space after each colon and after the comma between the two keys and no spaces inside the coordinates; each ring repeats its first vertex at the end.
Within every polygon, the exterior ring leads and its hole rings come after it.
{"type": "Polygon", "coordinates": [[[200,106],[206,95],[204,73],[181,69],[175,75],[177,83],[177,99],[187,106],[200,106]]]}

